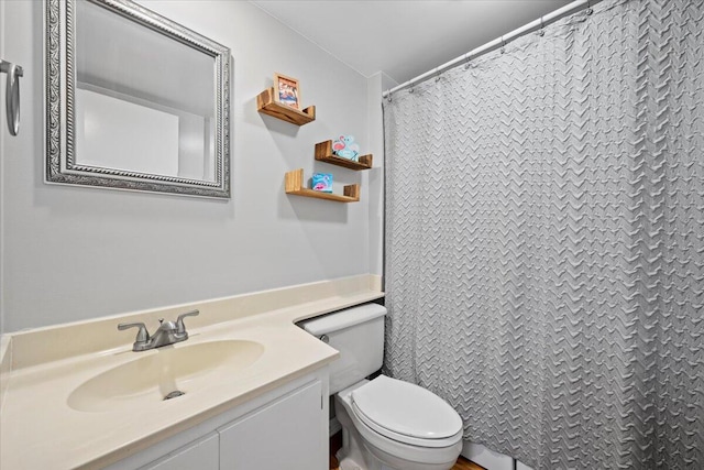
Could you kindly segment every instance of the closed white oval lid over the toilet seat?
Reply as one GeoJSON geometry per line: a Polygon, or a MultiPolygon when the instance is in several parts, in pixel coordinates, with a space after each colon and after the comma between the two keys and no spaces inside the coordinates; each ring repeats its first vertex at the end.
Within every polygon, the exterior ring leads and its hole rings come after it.
{"type": "Polygon", "coordinates": [[[359,417],[382,434],[387,429],[394,435],[432,440],[462,430],[460,415],[438,395],[385,375],[354,390],[352,403],[359,417]]]}

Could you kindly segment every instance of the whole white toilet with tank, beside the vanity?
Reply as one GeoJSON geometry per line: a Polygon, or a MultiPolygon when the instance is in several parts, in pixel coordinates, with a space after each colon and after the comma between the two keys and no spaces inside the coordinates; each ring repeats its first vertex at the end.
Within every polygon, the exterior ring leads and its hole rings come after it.
{"type": "Polygon", "coordinates": [[[386,308],[367,304],[300,324],[340,351],[330,394],[342,425],[342,470],[448,470],[462,450],[462,419],[418,385],[380,375],[386,308]]]}

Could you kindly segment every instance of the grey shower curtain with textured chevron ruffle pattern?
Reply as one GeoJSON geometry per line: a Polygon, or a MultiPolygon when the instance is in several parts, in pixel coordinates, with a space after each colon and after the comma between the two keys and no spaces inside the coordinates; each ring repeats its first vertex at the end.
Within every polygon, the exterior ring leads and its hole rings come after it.
{"type": "Polygon", "coordinates": [[[704,1],[604,1],[384,102],[385,371],[538,469],[704,469],[704,1]]]}

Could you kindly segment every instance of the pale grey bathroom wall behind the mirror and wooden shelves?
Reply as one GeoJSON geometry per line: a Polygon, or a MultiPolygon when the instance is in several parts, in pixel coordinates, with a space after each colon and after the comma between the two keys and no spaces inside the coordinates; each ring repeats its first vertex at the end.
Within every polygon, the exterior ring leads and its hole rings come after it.
{"type": "Polygon", "coordinates": [[[369,80],[249,2],[141,3],[232,50],[232,199],[46,185],[43,2],[0,2],[6,56],[25,72],[22,130],[4,138],[1,159],[4,331],[381,274],[381,254],[370,251],[381,250],[370,232],[370,207],[381,228],[378,179],[370,194],[381,173],[314,163],[315,143],[340,133],[367,150],[370,117],[381,112],[369,109],[369,80]],[[315,122],[297,128],[256,112],[275,72],[300,80],[315,122]],[[361,183],[362,200],[286,196],[284,173],[298,167],[334,173],[338,190],[361,183]]]}

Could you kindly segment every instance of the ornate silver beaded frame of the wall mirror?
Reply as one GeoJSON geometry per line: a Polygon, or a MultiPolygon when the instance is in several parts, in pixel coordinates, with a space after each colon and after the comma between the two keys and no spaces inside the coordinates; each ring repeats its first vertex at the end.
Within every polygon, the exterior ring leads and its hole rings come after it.
{"type": "MultiPolygon", "coordinates": [[[[212,58],[212,122],[204,131],[215,161],[208,177],[154,174],[86,163],[77,146],[77,0],[45,0],[45,119],[47,183],[178,195],[230,197],[230,50],[129,0],[78,0],[107,9],[139,26],[212,58]]],[[[113,39],[120,42],[120,37],[113,39]]],[[[153,61],[158,51],[147,52],[153,61]]],[[[139,74],[139,70],[135,70],[139,74]]],[[[190,92],[183,89],[183,96],[190,92]]],[[[178,94],[182,95],[180,92],[178,94]]],[[[178,125],[178,124],[177,124],[178,125]]],[[[176,133],[180,131],[176,128],[176,133]]],[[[178,145],[178,144],[177,144],[178,145]]],[[[204,157],[204,159],[205,159],[204,157]]]]}

